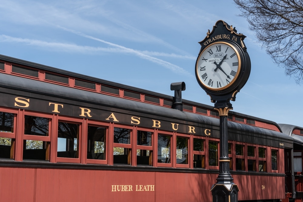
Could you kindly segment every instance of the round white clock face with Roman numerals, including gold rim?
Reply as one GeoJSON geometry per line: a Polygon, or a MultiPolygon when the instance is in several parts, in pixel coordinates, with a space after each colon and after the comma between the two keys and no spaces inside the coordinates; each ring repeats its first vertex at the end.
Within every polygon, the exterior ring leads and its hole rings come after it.
{"type": "Polygon", "coordinates": [[[198,56],[196,75],[203,86],[220,91],[235,82],[240,67],[238,50],[227,42],[215,42],[207,46],[198,56]]]}

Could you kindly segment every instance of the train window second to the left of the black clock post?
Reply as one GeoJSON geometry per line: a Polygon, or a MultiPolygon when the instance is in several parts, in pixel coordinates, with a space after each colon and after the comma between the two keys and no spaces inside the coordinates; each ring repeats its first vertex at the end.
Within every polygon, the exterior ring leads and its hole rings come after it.
{"type": "Polygon", "coordinates": [[[193,138],[194,142],[194,168],[205,168],[205,152],[204,152],[204,139],[193,138]]]}

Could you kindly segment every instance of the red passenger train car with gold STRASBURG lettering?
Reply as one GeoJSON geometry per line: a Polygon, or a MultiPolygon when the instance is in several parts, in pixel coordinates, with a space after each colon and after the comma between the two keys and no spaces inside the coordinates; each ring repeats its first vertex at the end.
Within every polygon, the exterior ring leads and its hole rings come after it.
{"type": "MultiPolygon", "coordinates": [[[[187,100],[180,111],[174,102],[0,55],[0,200],[211,201],[218,113],[187,100]]],[[[229,114],[238,201],[299,200],[289,183],[303,141],[275,122],[229,114]]]]}

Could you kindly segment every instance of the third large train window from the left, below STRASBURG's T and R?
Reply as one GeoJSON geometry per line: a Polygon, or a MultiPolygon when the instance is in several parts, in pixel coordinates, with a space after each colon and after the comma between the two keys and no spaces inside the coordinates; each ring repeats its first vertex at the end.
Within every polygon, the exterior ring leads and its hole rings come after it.
{"type": "Polygon", "coordinates": [[[57,157],[79,157],[79,127],[80,124],[58,122],[57,157]]]}

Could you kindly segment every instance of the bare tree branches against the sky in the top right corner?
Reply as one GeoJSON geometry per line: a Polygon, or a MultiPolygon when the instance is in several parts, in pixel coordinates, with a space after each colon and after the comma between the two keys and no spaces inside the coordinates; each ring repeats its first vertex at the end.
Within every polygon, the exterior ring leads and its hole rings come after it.
{"type": "Polygon", "coordinates": [[[285,74],[303,82],[302,0],[234,0],[250,29],[285,74]]]}

